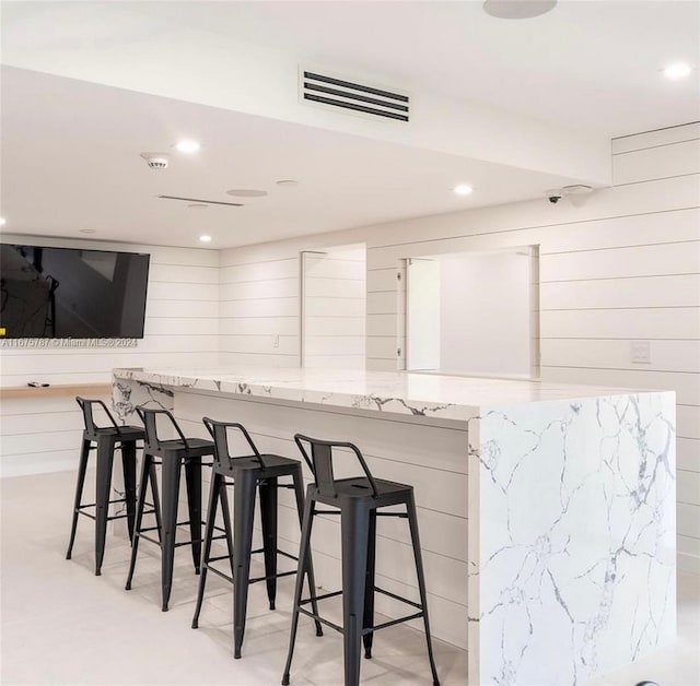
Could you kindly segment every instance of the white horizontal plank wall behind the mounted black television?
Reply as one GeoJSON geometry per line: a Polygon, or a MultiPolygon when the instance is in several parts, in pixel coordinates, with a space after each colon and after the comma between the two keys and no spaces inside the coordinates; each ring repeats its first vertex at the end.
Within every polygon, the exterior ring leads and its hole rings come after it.
{"type": "MultiPolygon", "coordinates": [[[[4,243],[149,252],[145,335],[135,347],[2,347],[2,387],[112,382],[114,367],[211,367],[219,354],[219,253],[213,250],[3,236],[4,243]]],[[[110,393],[101,394],[107,403],[110,393]]],[[[3,399],[0,474],[75,469],[82,419],[72,394],[3,399]]]]}

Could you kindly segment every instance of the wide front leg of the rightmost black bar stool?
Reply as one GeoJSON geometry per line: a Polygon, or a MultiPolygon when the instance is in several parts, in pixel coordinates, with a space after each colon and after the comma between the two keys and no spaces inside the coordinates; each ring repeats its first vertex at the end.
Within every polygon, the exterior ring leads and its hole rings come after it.
{"type": "Polygon", "coordinates": [[[342,626],[345,686],[360,684],[360,649],[364,614],[364,580],[368,567],[370,511],[349,501],[340,514],[342,537],[342,626]]]}

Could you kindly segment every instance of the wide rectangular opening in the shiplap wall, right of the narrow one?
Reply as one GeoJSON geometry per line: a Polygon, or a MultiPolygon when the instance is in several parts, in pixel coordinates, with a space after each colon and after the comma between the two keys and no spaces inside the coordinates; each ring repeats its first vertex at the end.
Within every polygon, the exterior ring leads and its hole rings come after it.
{"type": "Polygon", "coordinates": [[[537,246],[406,260],[406,369],[539,377],[537,246]]]}

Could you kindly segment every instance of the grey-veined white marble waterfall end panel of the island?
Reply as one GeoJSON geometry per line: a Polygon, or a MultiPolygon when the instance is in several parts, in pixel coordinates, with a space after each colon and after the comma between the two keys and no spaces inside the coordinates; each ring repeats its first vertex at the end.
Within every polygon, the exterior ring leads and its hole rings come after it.
{"type": "Polygon", "coordinates": [[[585,684],[672,641],[675,394],[504,406],[472,424],[470,683],[585,684]]]}

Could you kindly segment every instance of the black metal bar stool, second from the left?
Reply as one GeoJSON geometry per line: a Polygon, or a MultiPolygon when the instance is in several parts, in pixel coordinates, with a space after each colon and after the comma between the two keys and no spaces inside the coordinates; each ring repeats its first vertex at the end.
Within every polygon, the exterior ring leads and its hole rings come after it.
{"type": "Polygon", "coordinates": [[[131,590],[131,580],[136,568],[136,558],[139,549],[139,540],[145,539],[161,547],[161,584],[163,593],[163,612],[167,611],[167,603],[173,586],[173,563],[175,548],[180,545],[191,545],[195,573],[199,573],[201,559],[201,466],[202,457],[212,456],[213,442],[202,438],[186,438],[177,425],[175,417],[167,410],[150,407],[136,407],[145,427],[145,446],[143,447],[143,463],[141,466],[141,484],[139,488],[138,508],[136,512],[136,525],[133,542],[131,544],[131,564],[127,578],[126,590],[131,590]],[[166,417],[179,438],[161,440],[158,435],[159,416],[166,417]],[[142,518],[145,505],[147,480],[155,482],[154,465],[162,465],[162,531],[159,540],[148,535],[153,528],[142,527],[142,518]],[[177,500],[179,495],[180,471],[185,469],[187,482],[187,506],[189,518],[186,522],[177,521],[177,500]],[[189,524],[190,540],[182,543],[175,542],[177,527],[189,524]]]}

